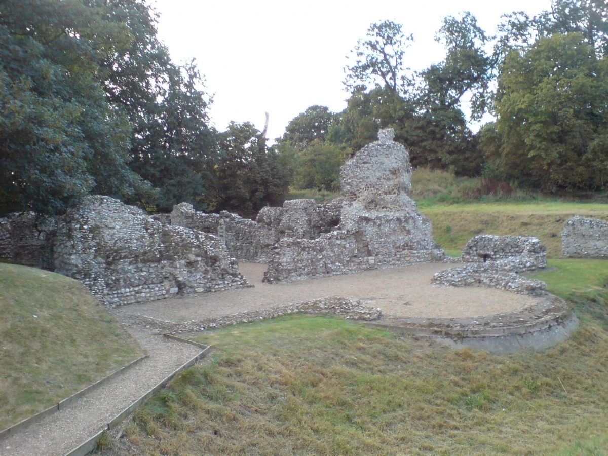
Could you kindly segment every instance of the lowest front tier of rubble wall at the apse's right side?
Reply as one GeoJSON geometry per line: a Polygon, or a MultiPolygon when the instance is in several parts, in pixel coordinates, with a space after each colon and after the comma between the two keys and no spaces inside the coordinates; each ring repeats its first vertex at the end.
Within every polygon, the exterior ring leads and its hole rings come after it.
{"type": "Polygon", "coordinates": [[[533,280],[523,275],[511,272],[508,268],[513,263],[469,263],[452,269],[435,272],[431,283],[444,286],[485,286],[498,288],[518,294],[545,294],[546,284],[541,280],[533,280]],[[505,266],[503,269],[501,266],[505,266]]]}

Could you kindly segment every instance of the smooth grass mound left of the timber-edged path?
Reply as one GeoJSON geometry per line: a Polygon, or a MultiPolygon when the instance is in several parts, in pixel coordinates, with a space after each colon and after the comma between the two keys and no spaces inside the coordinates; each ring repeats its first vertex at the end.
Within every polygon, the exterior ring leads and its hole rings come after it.
{"type": "Polygon", "coordinates": [[[0,429],[140,354],[79,282],[0,263],[0,429]]]}

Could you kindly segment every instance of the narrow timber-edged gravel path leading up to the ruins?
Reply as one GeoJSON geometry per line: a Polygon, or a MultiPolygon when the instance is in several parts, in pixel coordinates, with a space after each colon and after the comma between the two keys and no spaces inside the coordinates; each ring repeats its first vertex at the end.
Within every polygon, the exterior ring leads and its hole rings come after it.
{"type": "Polygon", "coordinates": [[[200,348],[130,328],[150,356],[126,373],[40,423],[0,440],[1,456],[64,455],[103,427],[136,399],[192,359],[200,348]]]}

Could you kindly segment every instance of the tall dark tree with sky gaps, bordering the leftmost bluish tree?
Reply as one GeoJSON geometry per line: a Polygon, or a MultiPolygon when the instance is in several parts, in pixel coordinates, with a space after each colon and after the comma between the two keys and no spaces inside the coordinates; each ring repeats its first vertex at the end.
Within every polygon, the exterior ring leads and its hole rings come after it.
{"type": "Polygon", "coordinates": [[[157,17],[141,0],[91,1],[103,3],[106,20],[127,24],[132,36],[101,66],[108,102],[125,112],[133,128],[131,168],[159,189],[153,198],[137,195],[135,201],[161,211],[184,201],[206,209],[217,147],[195,63],[171,61],[156,36],[157,17]]]}

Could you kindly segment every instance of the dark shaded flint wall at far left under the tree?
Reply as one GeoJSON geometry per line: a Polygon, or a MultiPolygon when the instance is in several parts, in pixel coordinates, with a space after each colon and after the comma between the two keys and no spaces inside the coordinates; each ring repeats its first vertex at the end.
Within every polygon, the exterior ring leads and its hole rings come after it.
{"type": "Polygon", "coordinates": [[[57,220],[33,212],[0,218],[0,258],[24,266],[53,270],[52,238],[57,220]]]}

